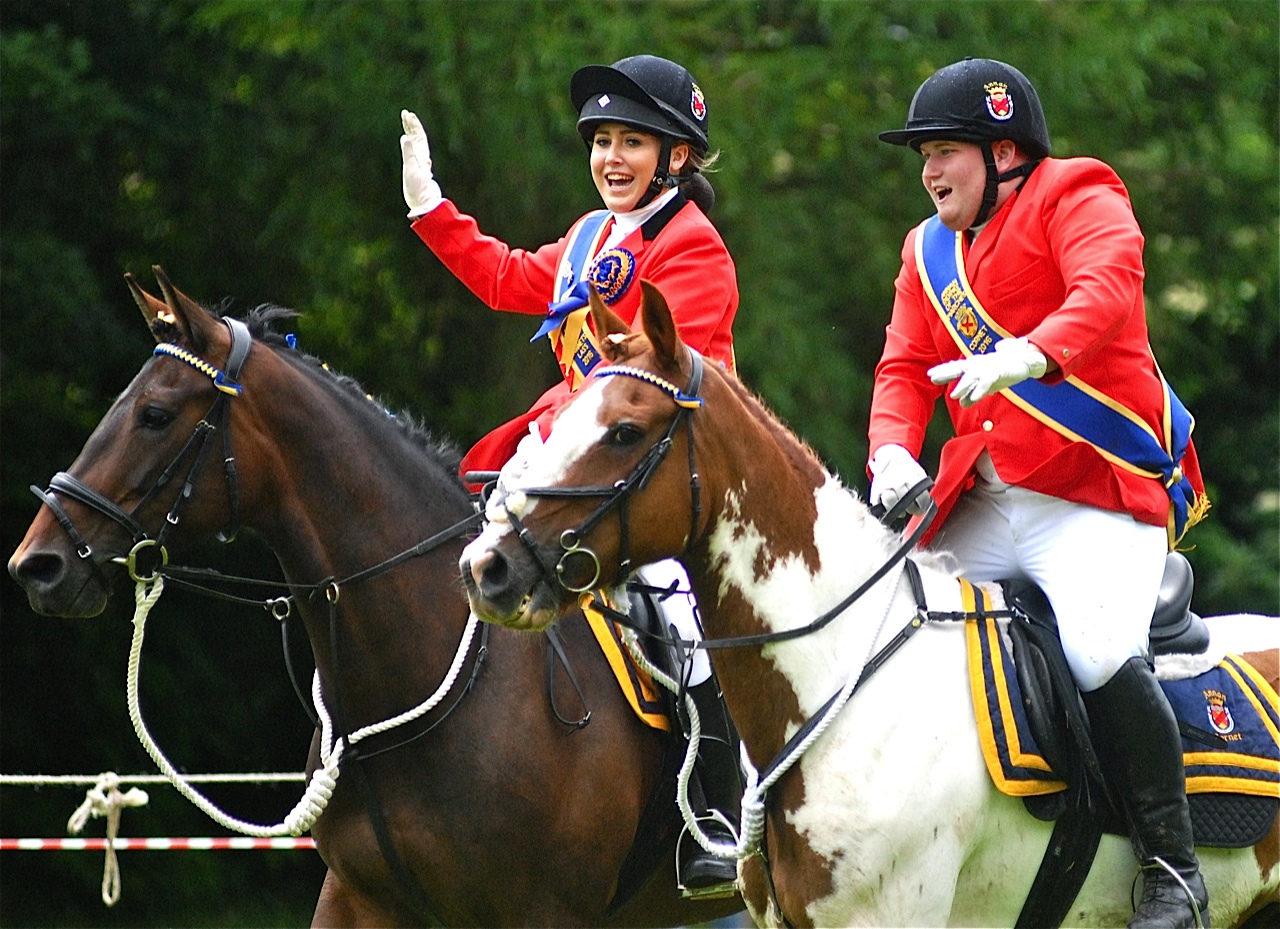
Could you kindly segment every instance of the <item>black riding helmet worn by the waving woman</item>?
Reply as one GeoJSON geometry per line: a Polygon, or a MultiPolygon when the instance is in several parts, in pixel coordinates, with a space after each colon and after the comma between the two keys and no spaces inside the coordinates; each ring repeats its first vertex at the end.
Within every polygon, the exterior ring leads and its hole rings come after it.
{"type": "Polygon", "coordinates": [[[600,123],[622,123],[662,139],[658,170],[639,206],[680,182],[669,171],[676,141],[707,155],[707,99],[692,75],[675,61],[634,55],[611,65],[589,64],[575,72],[568,95],[588,147],[600,123]]]}

